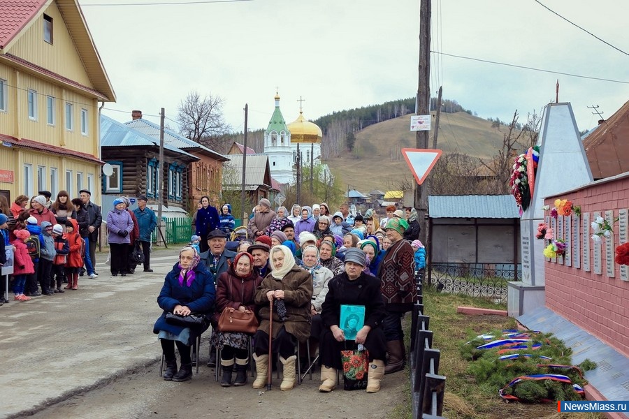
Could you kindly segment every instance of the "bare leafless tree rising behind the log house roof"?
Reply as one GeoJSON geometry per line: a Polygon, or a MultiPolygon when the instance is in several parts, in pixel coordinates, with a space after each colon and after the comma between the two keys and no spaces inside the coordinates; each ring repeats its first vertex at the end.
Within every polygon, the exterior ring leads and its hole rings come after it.
{"type": "Polygon", "coordinates": [[[177,121],[180,134],[190,140],[201,142],[204,138],[217,137],[229,131],[223,118],[223,104],[220,96],[201,98],[197,91],[191,91],[179,105],[177,121]]]}

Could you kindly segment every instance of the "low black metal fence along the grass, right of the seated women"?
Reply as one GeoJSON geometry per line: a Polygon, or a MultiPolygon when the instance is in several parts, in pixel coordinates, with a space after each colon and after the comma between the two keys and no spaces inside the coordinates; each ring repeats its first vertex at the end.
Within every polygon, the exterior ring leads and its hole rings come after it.
{"type": "Polygon", "coordinates": [[[424,316],[421,277],[417,283],[417,303],[411,321],[411,392],[413,418],[443,418],[445,376],[439,375],[439,349],[433,348],[430,317],[424,316]]]}

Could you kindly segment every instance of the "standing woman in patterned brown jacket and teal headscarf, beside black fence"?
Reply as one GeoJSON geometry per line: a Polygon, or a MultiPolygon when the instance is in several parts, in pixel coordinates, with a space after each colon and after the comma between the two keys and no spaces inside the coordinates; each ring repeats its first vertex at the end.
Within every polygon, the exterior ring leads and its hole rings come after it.
{"type": "Polygon", "coordinates": [[[385,374],[404,369],[406,352],[402,316],[413,309],[413,303],[417,299],[414,252],[410,243],[403,240],[407,227],[407,222],[398,218],[389,219],[384,227],[386,237],[391,240],[391,246],[384,253],[378,270],[386,304],[386,316],[382,324],[389,362],[385,374]]]}

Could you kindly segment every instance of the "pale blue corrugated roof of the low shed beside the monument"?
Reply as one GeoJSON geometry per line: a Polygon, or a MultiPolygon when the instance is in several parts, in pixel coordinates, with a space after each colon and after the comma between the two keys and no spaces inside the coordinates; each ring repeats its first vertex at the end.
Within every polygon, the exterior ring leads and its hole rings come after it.
{"type": "Polygon", "coordinates": [[[428,196],[428,212],[436,218],[520,218],[512,195],[428,196]]]}

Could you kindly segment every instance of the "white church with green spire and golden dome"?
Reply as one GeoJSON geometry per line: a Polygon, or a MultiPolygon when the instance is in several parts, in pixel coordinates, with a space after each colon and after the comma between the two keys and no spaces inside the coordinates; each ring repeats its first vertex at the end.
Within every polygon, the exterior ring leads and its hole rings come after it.
{"type": "MultiPolygon", "coordinates": [[[[321,164],[321,128],[299,116],[294,122],[286,123],[280,110],[280,95],[275,94],[275,110],[264,131],[264,154],[268,155],[271,176],[280,184],[296,183],[297,147],[301,156],[301,166],[310,168],[310,164],[321,164]],[[317,159],[319,161],[317,161],[317,159]]],[[[323,165],[321,177],[331,178],[327,165],[323,165]]]]}

